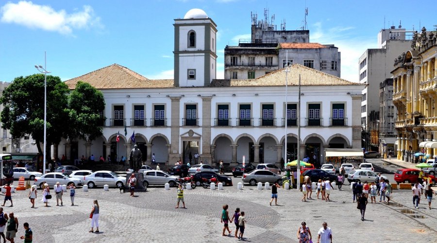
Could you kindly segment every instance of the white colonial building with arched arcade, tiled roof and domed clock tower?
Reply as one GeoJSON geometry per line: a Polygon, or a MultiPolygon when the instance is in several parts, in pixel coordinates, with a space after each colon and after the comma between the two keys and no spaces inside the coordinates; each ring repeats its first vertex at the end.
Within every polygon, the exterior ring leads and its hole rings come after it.
{"type": "Polygon", "coordinates": [[[301,156],[316,155],[319,164],[325,148],[360,148],[364,85],[300,64],[255,79],[215,79],[217,30],[212,19],[192,9],[184,19],[175,19],[174,26],[174,79],[150,80],[113,64],[66,81],[70,89],[84,81],[101,90],[106,102],[101,115],[107,119],[100,138],[64,139],[54,153],[69,159],[91,154],[119,159],[135,143],[147,162],[153,154],[159,163],[186,162],[190,152],[198,152],[208,164],[242,162],[243,156],[246,162],[279,164],[285,140],[295,159],[300,139],[301,156]]]}

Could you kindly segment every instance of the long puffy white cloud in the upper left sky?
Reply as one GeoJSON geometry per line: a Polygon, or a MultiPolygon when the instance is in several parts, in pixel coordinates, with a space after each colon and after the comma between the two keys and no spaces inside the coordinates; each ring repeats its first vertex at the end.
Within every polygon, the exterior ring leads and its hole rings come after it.
{"type": "Polygon", "coordinates": [[[84,5],[82,11],[68,14],[64,9],[56,11],[47,5],[19,1],[6,3],[0,12],[2,22],[59,32],[63,35],[72,35],[73,29],[103,27],[100,17],[96,17],[93,8],[88,5],[84,5]]]}

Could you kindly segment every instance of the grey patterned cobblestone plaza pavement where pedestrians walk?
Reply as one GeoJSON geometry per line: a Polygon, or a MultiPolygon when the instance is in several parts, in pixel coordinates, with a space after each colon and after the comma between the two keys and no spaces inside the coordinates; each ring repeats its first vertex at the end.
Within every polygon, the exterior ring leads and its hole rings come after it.
{"type": "MultiPolygon", "coordinates": [[[[269,206],[270,190],[249,186],[242,191],[236,186],[220,191],[196,188],[185,190],[187,209],[176,209],[176,188],[169,191],[162,187],[149,188],[147,192],[135,193],[134,198],[129,197],[129,193],[120,194],[115,188],[88,192],[79,188],[75,198],[78,206],[70,206],[69,195],[65,193],[65,206],[57,207],[55,199],[51,199],[51,207],[43,207],[38,191],[37,208],[30,208],[26,190],[13,193],[14,207],[7,207],[7,202],[4,211],[13,210],[18,218],[17,242],[22,242],[19,236],[24,233],[24,222],[30,224],[37,243],[237,242],[236,238],[221,236],[223,204],[229,205],[230,215],[236,207],[246,212],[244,236],[252,243],[298,242],[296,233],[302,221],[312,231],[314,242],[323,221],[333,230],[333,242],[436,241],[437,201],[430,210],[422,198],[420,208],[413,208],[409,190],[394,191],[392,199],[396,203],[390,205],[369,203],[364,222],[349,191],[333,191],[331,202],[309,200],[306,203],[300,200],[300,191],[280,189],[278,192],[280,206],[269,206]],[[88,217],[94,199],[98,199],[101,206],[99,234],[88,233],[88,217]]],[[[317,198],[315,193],[313,198],[317,198]]],[[[230,224],[230,228],[234,233],[234,224],[230,224]]]]}

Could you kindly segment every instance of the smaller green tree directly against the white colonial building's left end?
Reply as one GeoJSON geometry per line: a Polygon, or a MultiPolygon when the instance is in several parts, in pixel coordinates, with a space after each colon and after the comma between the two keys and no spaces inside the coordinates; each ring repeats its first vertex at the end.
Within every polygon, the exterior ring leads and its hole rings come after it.
{"type": "Polygon", "coordinates": [[[101,125],[105,117],[100,112],[105,109],[105,99],[100,90],[79,81],[68,99],[70,138],[94,140],[102,135],[101,125]]]}

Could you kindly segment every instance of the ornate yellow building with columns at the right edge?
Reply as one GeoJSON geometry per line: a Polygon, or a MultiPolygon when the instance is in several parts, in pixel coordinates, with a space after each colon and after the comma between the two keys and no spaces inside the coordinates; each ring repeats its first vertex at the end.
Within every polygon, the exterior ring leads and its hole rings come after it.
{"type": "Polygon", "coordinates": [[[437,155],[436,31],[413,36],[411,50],[394,60],[393,104],[398,109],[397,158],[412,162],[414,153],[437,155]]]}

